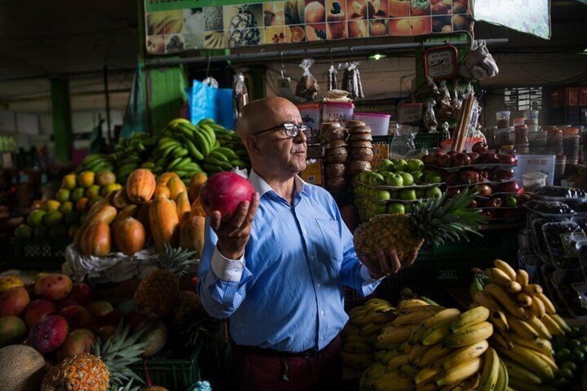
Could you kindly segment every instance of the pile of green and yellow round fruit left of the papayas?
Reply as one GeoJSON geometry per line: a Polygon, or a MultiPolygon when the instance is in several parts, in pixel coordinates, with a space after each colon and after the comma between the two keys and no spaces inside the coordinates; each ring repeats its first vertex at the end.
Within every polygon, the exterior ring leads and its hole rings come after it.
{"type": "Polygon", "coordinates": [[[15,230],[15,236],[19,239],[73,239],[90,208],[121,188],[123,186],[117,183],[111,171],[84,171],[77,176],[67,174],[55,199],[46,201],[42,208],[30,212],[26,224],[15,230]]]}

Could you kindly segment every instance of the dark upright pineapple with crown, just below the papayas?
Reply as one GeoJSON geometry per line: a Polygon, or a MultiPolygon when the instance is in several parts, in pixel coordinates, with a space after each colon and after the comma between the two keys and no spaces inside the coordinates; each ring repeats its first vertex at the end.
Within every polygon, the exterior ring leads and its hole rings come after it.
{"type": "Polygon", "coordinates": [[[147,274],[134,292],[138,311],[152,318],[163,318],[173,309],[179,295],[179,278],[190,269],[194,254],[165,244],[164,253],[157,259],[159,270],[147,274]]]}

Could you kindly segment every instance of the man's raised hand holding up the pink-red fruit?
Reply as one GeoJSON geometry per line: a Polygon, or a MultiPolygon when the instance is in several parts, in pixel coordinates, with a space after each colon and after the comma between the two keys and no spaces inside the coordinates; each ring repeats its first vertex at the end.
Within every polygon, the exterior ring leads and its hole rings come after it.
{"type": "Polygon", "coordinates": [[[210,215],[210,227],[218,237],[216,247],[229,260],[238,260],[249,242],[253,219],[259,209],[259,193],[255,192],[253,201],[242,201],[229,221],[221,221],[220,212],[215,210],[210,215]]]}

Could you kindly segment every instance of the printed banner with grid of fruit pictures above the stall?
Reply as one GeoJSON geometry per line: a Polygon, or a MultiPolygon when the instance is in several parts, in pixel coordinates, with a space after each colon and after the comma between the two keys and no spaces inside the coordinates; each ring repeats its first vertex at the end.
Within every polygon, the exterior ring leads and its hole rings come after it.
{"type": "Polygon", "coordinates": [[[471,29],[470,0],[145,0],[147,52],[471,29]]]}

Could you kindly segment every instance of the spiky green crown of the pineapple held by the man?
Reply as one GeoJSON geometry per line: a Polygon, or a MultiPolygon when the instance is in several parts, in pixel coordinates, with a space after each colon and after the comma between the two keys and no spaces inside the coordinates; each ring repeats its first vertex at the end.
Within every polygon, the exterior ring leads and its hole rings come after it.
{"type": "Polygon", "coordinates": [[[477,229],[485,217],[480,209],[469,208],[476,195],[475,188],[467,188],[449,201],[444,193],[440,199],[415,204],[410,215],[413,232],[435,246],[459,239],[469,241],[467,233],[481,235],[477,229]]]}

